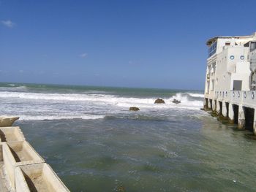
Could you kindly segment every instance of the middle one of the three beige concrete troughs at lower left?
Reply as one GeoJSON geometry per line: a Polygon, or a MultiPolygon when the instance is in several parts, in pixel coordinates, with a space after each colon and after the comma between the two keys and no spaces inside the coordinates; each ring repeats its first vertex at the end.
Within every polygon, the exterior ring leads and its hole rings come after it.
{"type": "Polygon", "coordinates": [[[15,188],[15,168],[17,166],[45,162],[26,141],[3,142],[2,145],[4,166],[13,188],[15,188]]]}

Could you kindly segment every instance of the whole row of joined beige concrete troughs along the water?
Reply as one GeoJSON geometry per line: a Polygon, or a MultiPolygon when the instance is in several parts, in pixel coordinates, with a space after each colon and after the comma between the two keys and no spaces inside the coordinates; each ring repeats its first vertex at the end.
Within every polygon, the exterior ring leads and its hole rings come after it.
{"type": "Polygon", "coordinates": [[[16,127],[0,127],[1,191],[69,191],[16,127]]]}

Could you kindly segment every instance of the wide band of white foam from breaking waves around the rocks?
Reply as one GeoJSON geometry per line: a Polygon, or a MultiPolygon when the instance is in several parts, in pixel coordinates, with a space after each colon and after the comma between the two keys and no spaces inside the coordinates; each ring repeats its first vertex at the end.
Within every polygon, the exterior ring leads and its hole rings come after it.
{"type": "Polygon", "coordinates": [[[105,115],[129,117],[129,107],[140,108],[144,115],[164,114],[174,110],[200,110],[203,100],[192,93],[176,93],[165,104],[154,104],[157,98],[124,97],[103,93],[27,93],[0,91],[0,114],[19,115],[21,120],[100,119],[105,115]],[[174,104],[173,99],[181,101],[174,104]],[[19,114],[17,114],[19,112],[19,114]],[[128,116],[127,116],[128,115],[128,116]]]}

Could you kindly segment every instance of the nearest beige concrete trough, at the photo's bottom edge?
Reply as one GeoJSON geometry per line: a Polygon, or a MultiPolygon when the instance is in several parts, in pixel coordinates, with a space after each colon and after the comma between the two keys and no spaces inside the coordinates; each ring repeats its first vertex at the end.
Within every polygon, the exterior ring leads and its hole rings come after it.
{"type": "Polygon", "coordinates": [[[69,191],[48,164],[29,164],[15,169],[17,192],[69,191]]]}

